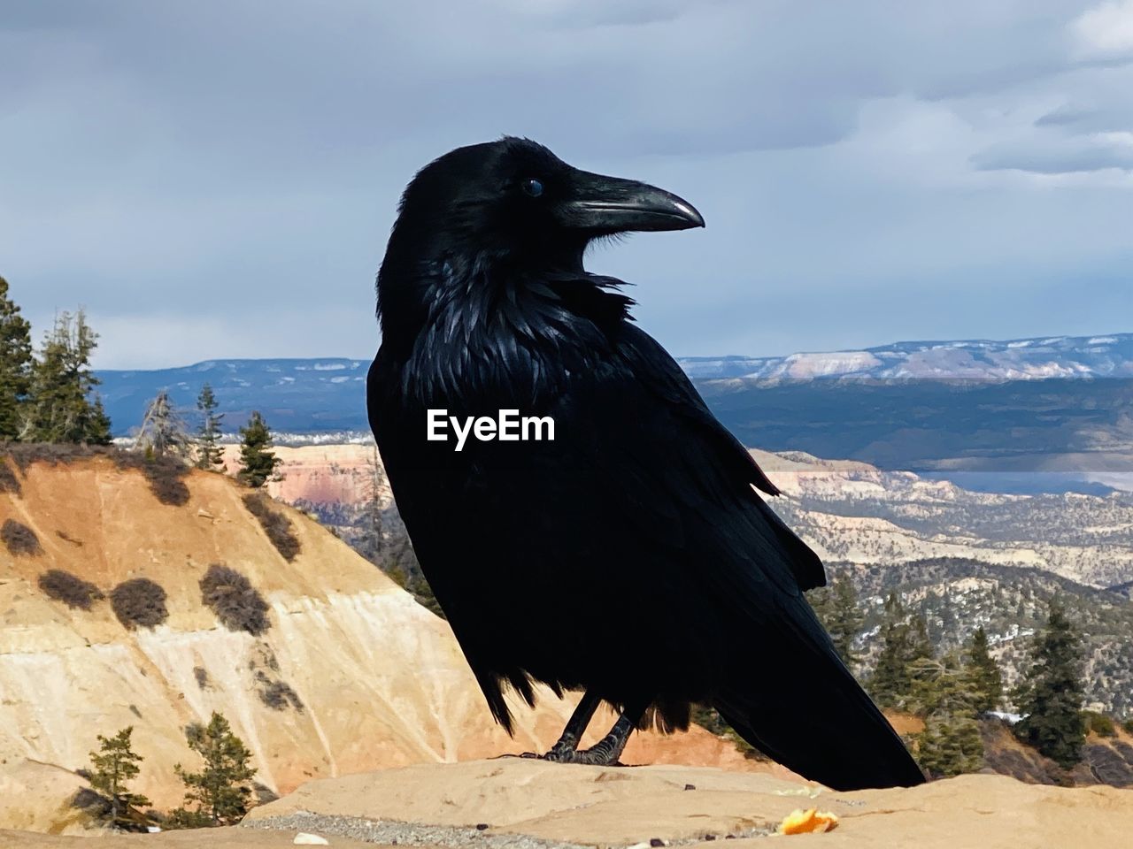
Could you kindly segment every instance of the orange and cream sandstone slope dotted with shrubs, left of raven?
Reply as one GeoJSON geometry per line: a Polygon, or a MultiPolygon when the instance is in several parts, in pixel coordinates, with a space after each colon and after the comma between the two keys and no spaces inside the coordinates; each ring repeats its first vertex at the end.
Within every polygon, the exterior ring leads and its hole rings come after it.
{"type": "MultiPolygon", "coordinates": [[[[27,762],[82,767],[95,735],[134,726],[146,758],[136,787],[156,806],[173,806],[181,797],[173,764],[194,763],[182,728],[213,710],[228,717],[254,753],[258,780],[276,792],[310,778],[539,749],[569,714],[568,703],[544,692],[538,710],[517,710],[509,739],[443,620],[276,504],[301,544],[288,563],[242,504],[247,490],[222,475],[193,472],[188,503],[173,507],[140,473],[107,458],[33,463],[17,474],[22,492],[0,492],[0,523],[31,528],[43,554],[12,556],[0,546],[0,782],[39,787],[17,775],[27,762]],[[267,600],[266,634],[232,633],[202,606],[198,582],[213,563],[246,575],[267,600]],[[169,619],[130,632],[108,601],[69,609],[36,585],[49,568],[104,592],[152,578],[168,593],[169,619]],[[203,687],[195,668],[207,677],[203,687]],[[290,686],[303,710],[267,706],[257,676],[290,686]]],[[[629,757],[751,765],[699,729],[638,738],[629,757]]],[[[59,801],[46,790],[6,794],[0,826],[39,822],[34,811],[59,801]]]]}

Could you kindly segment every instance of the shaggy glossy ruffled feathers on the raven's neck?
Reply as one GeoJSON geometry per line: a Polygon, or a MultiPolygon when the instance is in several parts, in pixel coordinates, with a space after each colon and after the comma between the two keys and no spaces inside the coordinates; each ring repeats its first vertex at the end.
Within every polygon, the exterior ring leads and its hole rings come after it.
{"type": "Polygon", "coordinates": [[[402,391],[425,404],[487,397],[537,404],[572,374],[593,371],[632,320],[633,301],[615,291],[623,283],[581,268],[534,273],[484,259],[440,261],[398,284],[402,294],[416,293],[417,320],[407,327],[409,305],[394,314],[383,298],[383,345],[401,349],[402,391]]]}

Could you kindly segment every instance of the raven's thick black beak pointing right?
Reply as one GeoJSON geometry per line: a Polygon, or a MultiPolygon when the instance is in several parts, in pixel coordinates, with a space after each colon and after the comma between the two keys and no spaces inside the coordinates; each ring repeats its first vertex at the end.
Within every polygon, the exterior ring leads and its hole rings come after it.
{"type": "Polygon", "coordinates": [[[579,230],[688,230],[705,220],[688,200],[637,180],[577,171],[570,197],[556,211],[559,223],[579,230]]]}

